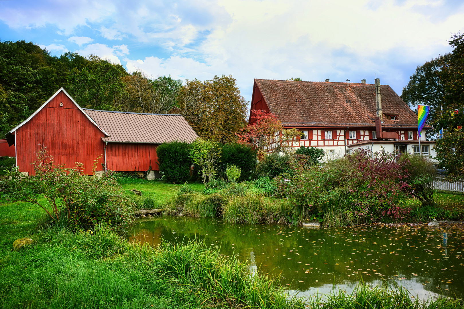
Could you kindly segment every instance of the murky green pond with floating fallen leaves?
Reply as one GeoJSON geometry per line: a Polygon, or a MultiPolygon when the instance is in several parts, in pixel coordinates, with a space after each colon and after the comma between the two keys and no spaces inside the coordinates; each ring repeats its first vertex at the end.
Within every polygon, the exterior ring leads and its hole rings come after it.
{"type": "Polygon", "coordinates": [[[300,294],[328,292],[333,284],[352,290],[360,280],[407,287],[420,298],[464,296],[463,227],[371,225],[307,228],[234,225],[220,219],[139,219],[131,241],[201,240],[226,256],[248,260],[251,271],[280,274],[300,294]]]}

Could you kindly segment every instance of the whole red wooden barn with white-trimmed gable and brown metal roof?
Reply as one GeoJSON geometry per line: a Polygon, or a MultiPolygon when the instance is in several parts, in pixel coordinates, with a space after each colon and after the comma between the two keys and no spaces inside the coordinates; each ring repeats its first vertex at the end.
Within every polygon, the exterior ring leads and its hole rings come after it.
{"type": "Polygon", "coordinates": [[[29,174],[40,145],[56,164],[74,167],[80,162],[84,173],[92,175],[99,157],[97,170],[157,171],[158,145],[197,138],[182,115],[83,109],[63,88],[6,134],[8,144],[16,146],[16,165],[29,174]]]}

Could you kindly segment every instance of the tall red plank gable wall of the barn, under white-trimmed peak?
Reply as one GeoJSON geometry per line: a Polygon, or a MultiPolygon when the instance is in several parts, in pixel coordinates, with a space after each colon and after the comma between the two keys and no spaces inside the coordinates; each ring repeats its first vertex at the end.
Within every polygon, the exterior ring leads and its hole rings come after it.
{"type": "Polygon", "coordinates": [[[100,131],[64,94],[59,92],[31,120],[20,126],[16,132],[17,158],[19,170],[34,173],[32,162],[37,159],[40,145],[47,147],[56,164],[75,167],[76,162],[84,164],[84,173],[92,174],[92,164],[99,155],[102,158],[97,170],[103,170],[104,143],[100,131]],[[60,107],[60,102],[63,106],[60,107]]]}

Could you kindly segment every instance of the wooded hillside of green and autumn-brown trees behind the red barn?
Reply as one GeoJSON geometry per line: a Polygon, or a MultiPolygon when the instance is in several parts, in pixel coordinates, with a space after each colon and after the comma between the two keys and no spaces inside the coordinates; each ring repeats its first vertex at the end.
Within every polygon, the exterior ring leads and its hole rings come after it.
{"type": "Polygon", "coordinates": [[[152,114],[183,114],[200,137],[234,142],[246,125],[247,102],[232,76],[207,81],[129,74],[96,55],[52,56],[26,41],[0,41],[0,139],[63,87],[81,106],[152,114]]]}

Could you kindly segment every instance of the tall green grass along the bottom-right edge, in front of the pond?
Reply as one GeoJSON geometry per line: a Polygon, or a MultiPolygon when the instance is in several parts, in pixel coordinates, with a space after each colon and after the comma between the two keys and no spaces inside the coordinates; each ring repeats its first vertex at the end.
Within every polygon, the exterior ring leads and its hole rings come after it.
{"type": "Polygon", "coordinates": [[[334,287],[328,295],[315,295],[308,305],[311,309],[455,309],[464,303],[448,298],[420,301],[402,287],[360,283],[350,294],[334,287]]]}

